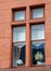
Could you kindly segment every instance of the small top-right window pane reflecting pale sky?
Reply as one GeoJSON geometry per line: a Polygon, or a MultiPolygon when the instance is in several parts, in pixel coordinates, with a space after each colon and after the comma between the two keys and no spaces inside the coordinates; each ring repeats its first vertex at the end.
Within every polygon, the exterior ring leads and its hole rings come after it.
{"type": "Polygon", "coordinates": [[[31,10],[31,17],[33,17],[33,19],[43,17],[43,8],[33,9],[33,10],[31,10]]]}

